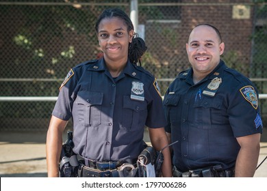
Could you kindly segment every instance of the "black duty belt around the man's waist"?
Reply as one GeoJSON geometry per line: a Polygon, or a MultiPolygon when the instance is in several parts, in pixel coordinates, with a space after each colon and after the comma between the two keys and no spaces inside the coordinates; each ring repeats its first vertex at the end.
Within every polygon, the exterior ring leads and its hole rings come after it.
{"type": "Polygon", "coordinates": [[[173,177],[234,177],[234,175],[235,168],[225,170],[220,164],[186,172],[181,172],[173,166],[173,177]]]}

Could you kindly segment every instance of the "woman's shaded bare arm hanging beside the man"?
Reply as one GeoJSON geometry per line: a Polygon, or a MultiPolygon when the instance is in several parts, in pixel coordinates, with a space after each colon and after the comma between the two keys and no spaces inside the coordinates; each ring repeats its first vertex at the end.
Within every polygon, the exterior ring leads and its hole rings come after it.
{"type": "MultiPolygon", "coordinates": [[[[168,145],[168,138],[164,128],[149,128],[149,136],[151,140],[151,145],[157,150],[160,151],[163,147],[168,145]]],[[[167,147],[162,151],[164,156],[164,161],[162,164],[162,175],[163,177],[172,177],[172,168],[170,160],[170,150],[167,147]]]]}

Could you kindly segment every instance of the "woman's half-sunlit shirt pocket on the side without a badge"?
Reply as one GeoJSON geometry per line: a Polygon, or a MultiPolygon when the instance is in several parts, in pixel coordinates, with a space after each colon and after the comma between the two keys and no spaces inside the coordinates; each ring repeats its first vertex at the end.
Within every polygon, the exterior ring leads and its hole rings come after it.
{"type": "Polygon", "coordinates": [[[92,91],[79,91],[75,100],[77,107],[73,111],[73,118],[82,126],[95,128],[101,124],[101,107],[103,93],[92,91]]]}

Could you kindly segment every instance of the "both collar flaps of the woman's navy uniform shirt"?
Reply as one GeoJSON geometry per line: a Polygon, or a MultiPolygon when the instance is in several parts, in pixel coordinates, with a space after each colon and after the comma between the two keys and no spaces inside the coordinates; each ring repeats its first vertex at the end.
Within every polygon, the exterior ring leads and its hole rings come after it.
{"type": "MultiPolygon", "coordinates": [[[[133,78],[140,79],[140,72],[138,72],[137,67],[138,67],[137,65],[133,65],[133,63],[131,63],[128,59],[127,64],[123,70],[123,73],[133,78]]],[[[107,67],[105,65],[105,60],[103,58],[99,59],[99,61],[95,62],[93,65],[90,65],[90,67],[88,67],[88,70],[98,71],[98,72],[107,70],[107,67]]]]}

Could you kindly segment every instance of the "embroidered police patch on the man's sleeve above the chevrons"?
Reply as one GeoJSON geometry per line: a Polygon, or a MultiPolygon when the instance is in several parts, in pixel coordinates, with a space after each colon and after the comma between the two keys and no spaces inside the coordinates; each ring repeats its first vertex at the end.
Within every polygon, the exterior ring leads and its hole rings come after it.
{"type": "Polygon", "coordinates": [[[247,85],[242,87],[239,91],[241,92],[245,100],[248,101],[253,106],[253,108],[257,109],[259,102],[257,100],[257,93],[254,87],[247,85]]]}

